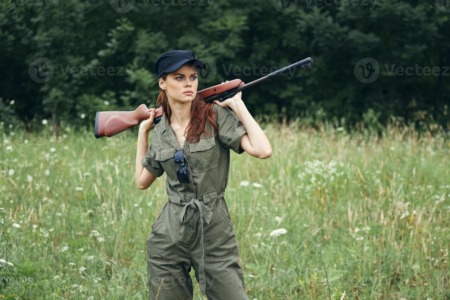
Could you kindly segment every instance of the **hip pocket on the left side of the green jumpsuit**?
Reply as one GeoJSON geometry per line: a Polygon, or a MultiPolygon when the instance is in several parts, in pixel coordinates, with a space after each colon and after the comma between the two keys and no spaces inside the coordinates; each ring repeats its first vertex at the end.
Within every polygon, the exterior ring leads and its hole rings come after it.
{"type": "Polygon", "coordinates": [[[167,202],[160,216],[152,225],[152,231],[146,241],[147,256],[150,260],[178,262],[178,229],[180,220],[173,217],[174,214],[171,212],[174,209],[175,207],[170,202],[167,202]]]}

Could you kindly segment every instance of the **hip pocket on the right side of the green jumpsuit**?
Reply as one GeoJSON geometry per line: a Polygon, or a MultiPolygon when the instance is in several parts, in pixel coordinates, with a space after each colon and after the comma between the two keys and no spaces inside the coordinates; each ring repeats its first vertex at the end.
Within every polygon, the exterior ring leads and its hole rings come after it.
{"type": "MultiPolygon", "coordinates": [[[[205,261],[219,260],[231,255],[238,255],[238,241],[229,215],[220,205],[222,199],[211,204],[212,218],[205,224],[205,261]]],[[[226,207],[226,206],[225,206],[226,207]]]]}

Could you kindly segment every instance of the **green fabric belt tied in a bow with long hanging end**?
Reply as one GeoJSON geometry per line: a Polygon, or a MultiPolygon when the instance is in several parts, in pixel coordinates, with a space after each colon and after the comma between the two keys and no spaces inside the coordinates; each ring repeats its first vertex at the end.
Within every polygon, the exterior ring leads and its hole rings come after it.
{"type": "Polygon", "coordinates": [[[202,238],[201,238],[201,244],[202,244],[202,260],[200,261],[200,275],[199,275],[199,286],[200,286],[200,291],[202,292],[203,295],[205,295],[205,288],[206,288],[206,283],[205,283],[205,270],[204,270],[204,260],[205,260],[205,245],[203,243],[203,219],[205,219],[206,223],[209,224],[209,222],[211,222],[211,217],[212,217],[212,211],[211,209],[204,205],[201,201],[198,201],[195,198],[192,198],[191,201],[189,202],[181,202],[181,205],[184,205],[183,208],[181,209],[181,214],[180,214],[180,221],[181,224],[187,223],[189,222],[189,220],[192,217],[192,214],[195,210],[195,206],[198,207],[198,210],[200,211],[200,222],[202,223],[202,238]],[[187,215],[186,215],[186,210],[187,208],[191,207],[191,209],[188,210],[187,215]],[[187,216],[187,218],[185,218],[185,216],[187,216]]]}

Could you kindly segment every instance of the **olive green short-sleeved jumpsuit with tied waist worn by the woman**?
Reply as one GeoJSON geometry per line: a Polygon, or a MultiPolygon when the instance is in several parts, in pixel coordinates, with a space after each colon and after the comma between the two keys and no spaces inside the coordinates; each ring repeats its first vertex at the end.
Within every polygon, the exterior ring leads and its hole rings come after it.
{"type": "Polygon", "coordinates": [[[173,159],[180,149],[166,113],[153,129],[152,142],[142,165],[160,177],[167,175],[168,201],[147,239],[151,299],[192,299],[191,266],[202,295],[208,299],[248,299],[238,262],[239,249],[225,202],[230,148],[241,154],[241,136],[247,133],[238,116],[213,105],[215,128],[207,121],[206,134],[197,143],[184,141],[184,164],[190,183],[180,183],[173,159]],[[209,132],[212,131],[210,137],[209,132]]]}

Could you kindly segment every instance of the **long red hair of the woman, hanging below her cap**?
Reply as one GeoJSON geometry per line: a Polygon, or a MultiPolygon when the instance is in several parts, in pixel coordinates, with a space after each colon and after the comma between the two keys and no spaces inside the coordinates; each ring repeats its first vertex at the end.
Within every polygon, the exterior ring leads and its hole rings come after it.
{"type": "MultiPolygon", "coordinates": [[[[161,78],[165,81],[167,78],[167,73],[164,73],[161,78]]],[[[159,95],[156,100],[156,105],[162,107],[162,113],[167,112],[167,116],[169,116],[168,121],[170,123],[172,112],[169,105],[169,100],[167,99],[166,91],[162,90],[161,87],[159,88],[159,95]]],[[[202,97],[198,94],[195,95],[195,98],[191,104],[191,119],[188,127],[186,128],[186,139],[188,139],[189,143],[197,143],[200,140],[201,134],[206,134],[206,121],[209,121],[215,127],[216,132],[214,136],[217,135],[217,130],[219,130],[219,128],[215,122],[214,111],[212,109],[213,105],[214,102],[205,103],[202,97]]],[[[211,136],[211,133],[209,133],[208,137],[209,136],[211,136]]]]}

